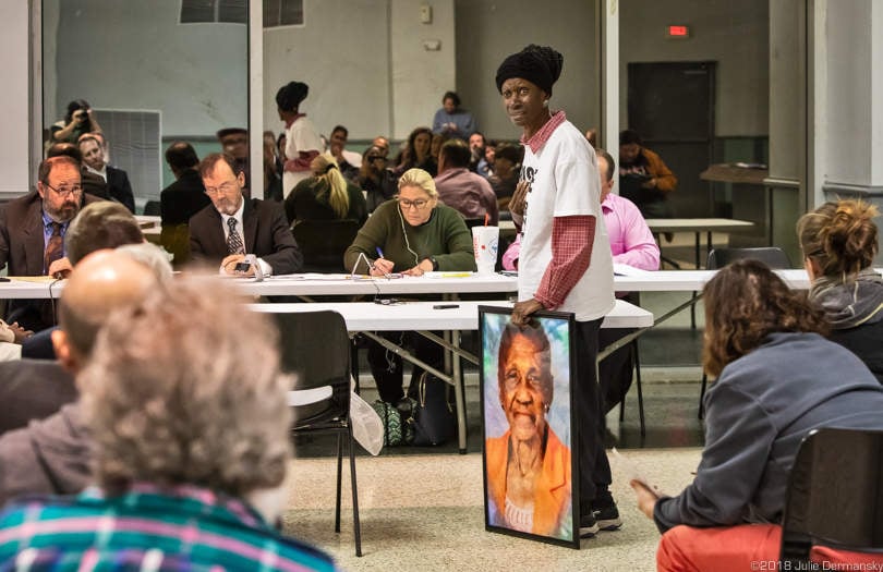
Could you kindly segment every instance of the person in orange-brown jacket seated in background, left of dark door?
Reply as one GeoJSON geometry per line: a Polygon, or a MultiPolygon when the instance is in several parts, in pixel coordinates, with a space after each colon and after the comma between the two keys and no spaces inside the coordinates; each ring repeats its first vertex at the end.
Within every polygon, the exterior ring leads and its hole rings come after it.
{"type": "Polygon", "coordinates": [[[644,218],[672,218],[668,195],[677,186],[678,178],[658,155],[643,146],[637,131],[619,134],[619,193],[634,203],[644,218]]]}

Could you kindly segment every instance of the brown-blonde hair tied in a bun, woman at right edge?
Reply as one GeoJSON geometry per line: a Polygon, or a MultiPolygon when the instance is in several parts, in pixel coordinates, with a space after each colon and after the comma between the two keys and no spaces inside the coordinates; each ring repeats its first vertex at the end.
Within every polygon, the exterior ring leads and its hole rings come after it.
{"type": "Polygon", "coordinates": [[[844,280],[873,264],[876,256],[876,207],[862,200],[828,202],[797,221],[803,256],[828,277],[844,280]]]}

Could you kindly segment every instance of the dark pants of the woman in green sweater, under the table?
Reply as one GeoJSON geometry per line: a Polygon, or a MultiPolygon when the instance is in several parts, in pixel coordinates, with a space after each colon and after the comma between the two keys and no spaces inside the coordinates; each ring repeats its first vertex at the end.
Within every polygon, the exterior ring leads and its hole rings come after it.
{"type": "MultiPolygon", "coordinates": [[[[396,345],[411,349],[414,356],[426,362],[436,369],[443,369],[445,364],[445,351],[437,343],[427,340],[420,333],[413,331],[385,331],[377,332],[396,345]]],[[[380,399],[387,403],[396,404],[404,397],[402,390],[403,364],[402,358],[391,351],[388,351],[374,340],[367,340],[368,365],[374,381],[377,384],[377,391],[380,399]]],[[[410,388],[416,388],[416,381],[423,374],[423,368],[416,365],[411,373],[410,388]]]]}

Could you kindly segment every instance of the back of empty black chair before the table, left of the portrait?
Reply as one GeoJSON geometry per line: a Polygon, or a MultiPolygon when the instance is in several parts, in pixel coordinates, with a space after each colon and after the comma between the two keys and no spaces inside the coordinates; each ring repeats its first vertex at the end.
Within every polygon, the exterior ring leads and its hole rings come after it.
{"type": "Polygon", "coordinates": [[[347,423],[350,414],[350,338],[337,312],[274,313],[282,370],[298,376],[291,389],[331,387],[325,401],[294,407],[295,429],[347,423]]]}

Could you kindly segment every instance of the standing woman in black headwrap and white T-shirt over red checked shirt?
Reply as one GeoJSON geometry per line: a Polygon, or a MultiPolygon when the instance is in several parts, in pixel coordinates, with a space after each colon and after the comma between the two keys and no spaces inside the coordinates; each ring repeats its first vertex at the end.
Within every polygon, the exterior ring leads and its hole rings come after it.
{"type": "MultiPolygon", "coordinates": [[[[496,83],[509,119],[521,127],[524,159],[509,209],[522,217],[518,300],[512,322],[524,326],[542,309],[573,313],[579,459],[580,536],[621,524],[608,490],[595,357],[598,329],[614,307],[613,261],[601,212],[595,154],[564,111],[552,111],[552,86],[564,57],[528,46],[506,58],[496,83]]],[[[577,499],[574,499],[576,501],[577,499]]]]}

